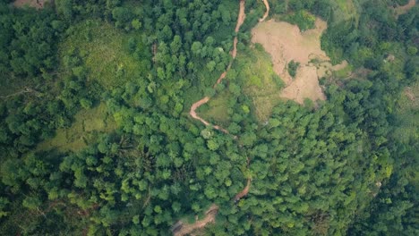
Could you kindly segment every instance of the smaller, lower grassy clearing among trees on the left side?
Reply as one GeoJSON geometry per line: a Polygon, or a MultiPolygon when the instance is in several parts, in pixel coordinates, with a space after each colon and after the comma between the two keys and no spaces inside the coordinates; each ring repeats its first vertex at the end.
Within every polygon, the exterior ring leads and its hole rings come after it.
{"type": "Polygon", "coordinates": [[[80,151],[87,143],[94,141],[95,132],[114,131],[114,119],[107,114],[107,105],[100,105],[87,110],[81,110],[74,117],[71,127],[58,129],[56,136],[39,143],[38,150],[57,148],[60,151],[80,151]]]}

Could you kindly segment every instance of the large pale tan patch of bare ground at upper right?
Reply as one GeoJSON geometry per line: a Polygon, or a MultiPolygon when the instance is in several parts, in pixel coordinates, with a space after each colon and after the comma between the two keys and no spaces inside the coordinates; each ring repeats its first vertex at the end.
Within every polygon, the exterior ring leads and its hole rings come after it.
{"type": "Polygon", "coordinates": [[[252,30],[252,42],[260,43],[271,55],[274,71],[286,83],[280,97],[300,104],[304,103],[304,98],[313,101],[326,99],[319,85],[319,75],[342,69],[347,64],[332,66],[329,57],[321,50],[321,34],[326,29],[327,23],[316,19],[315,28],[304,32],[296,25],[273,20],[260,22],[252,30]],[[300,63],[295,78],[287,72],[287,64],[291,61],[300,63]]]}

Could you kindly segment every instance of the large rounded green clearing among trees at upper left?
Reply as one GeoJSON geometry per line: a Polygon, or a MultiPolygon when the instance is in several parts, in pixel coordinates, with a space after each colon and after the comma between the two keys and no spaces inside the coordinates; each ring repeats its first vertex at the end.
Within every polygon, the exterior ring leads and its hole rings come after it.
{"type": "Polygon", "coordinates": [[[150,48],[142,45],[139,33],[125,33],[102,21],[82,21],[60,45],[60,55],[79,51],[90,70],[89,80],[107,89],[146,75],[150,48]]]}

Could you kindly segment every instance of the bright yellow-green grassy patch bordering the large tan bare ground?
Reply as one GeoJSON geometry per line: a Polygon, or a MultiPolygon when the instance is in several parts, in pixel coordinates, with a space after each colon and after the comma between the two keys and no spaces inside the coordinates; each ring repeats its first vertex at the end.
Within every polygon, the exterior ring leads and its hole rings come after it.
{"type": "Polygon", "coordinates": [[[244,80],[244,93],[252,97],[253,111],[260,122],[268,119],[278,105],[283,81],[273,71],[270,55],[256,44],[249,52],[237,56],[238,78],[244,80]]]}

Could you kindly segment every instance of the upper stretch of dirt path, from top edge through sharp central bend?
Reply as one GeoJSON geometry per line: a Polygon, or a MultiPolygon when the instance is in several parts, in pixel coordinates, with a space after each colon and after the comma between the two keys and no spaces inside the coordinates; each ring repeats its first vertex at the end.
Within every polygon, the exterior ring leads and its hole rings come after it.
{"type": "MultiPolygon", "coordinates": [[[[244,0],[240,0],[239,14],[238,14],[238,17],[237,17],[237,23],[235,24],[235,33],[238,33],[238,31],[240,30],[240,27],[242,26],[245,18],[246,18],[246,14],[244,13],[244,0]]],[[[237,55],[237,41],[238,41],[237,36],[235,36],[235,39],[233,40],[233,49],[230,51],[230,55],[232,55],[233,60],[235,59],[235,56],[237,55]]],[[[231,64],[233,63],[233,60],[231,60],[230,63],[228,64],[226,72],[223,72],[219,76],[219,78],[218,78],[217,82],[214,84],[213,88],[215,88],[222,80],[224,80],[224,78],[226,78],[227,72],[230,70],[231,64]]],[[[207,97],[207,96],[202,97],[201,100],[192,104],[191,110],[189,112],[189,114],[192,116],[193,119],[196,119],[196,120],[202,122],[206,126],[210,125],[210,123],[205,121],[204,119],[202,119],[201,116],[199,116],[198,114],[196,114],[196,109],[198,109],[201,105],[204,105],[208,102],[209,102],[209,97],[207,97]]],[[[228,133],[228,131],[226,129],[220,127],[219,125],[213,125],[213,127],[214,127],[214,129],[216,129],[218,131],[228,133]]]]}

